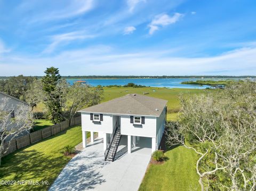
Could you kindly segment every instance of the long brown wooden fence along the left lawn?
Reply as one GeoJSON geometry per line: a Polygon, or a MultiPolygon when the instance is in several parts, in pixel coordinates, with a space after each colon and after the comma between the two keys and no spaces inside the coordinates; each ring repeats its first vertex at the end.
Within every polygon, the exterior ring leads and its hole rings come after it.
{"type": "MultiPolygon", "coordinates": [[[[70,122],[70,127],[77,124],[81,124],[81,116],[73,118],[70,122]]],[[[24,135],[16,139],[12,139],[9,150],[4,154],[4,156],[13,153],[14,151],[17,151],[22,147],[39,142],[39,140],[53,136],[60,131],[66,130],[67,128],[69,128],[69,120],[62,121],[60,123],[54,124],[53,126],[49,126],[35,132],[31,132],[31,134],[24,135]]],[[[9,143],[10,142],[6,142],[4,144],[5,150],[9,143]]]]}

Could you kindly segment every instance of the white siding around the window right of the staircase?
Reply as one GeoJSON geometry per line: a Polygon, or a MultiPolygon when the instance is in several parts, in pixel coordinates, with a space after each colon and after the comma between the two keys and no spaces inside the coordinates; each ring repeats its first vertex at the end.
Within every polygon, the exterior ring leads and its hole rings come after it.
{"type": "Polygon", "coordinates": [[[129,115],[121,115],[121,134],[141,137],[156,137],[156,117],[145,117],[141,126],[130,123],[129,115]]]}

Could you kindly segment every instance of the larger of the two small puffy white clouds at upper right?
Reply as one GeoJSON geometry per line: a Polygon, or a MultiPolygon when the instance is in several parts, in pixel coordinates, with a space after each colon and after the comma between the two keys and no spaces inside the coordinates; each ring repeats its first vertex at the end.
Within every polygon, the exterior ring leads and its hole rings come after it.
{"type": "Polygon", "coordinates": [[[153,35],[156,30],[159,30],[159,27],[164,27],[169,24],[174,24],[175,22],[179,21],[184,14],[181,13],[174,13],[173,16],[169,16],[165,13],[158,14],[155,18],[151,21],[148,25],[149,35],[153,35]]]}

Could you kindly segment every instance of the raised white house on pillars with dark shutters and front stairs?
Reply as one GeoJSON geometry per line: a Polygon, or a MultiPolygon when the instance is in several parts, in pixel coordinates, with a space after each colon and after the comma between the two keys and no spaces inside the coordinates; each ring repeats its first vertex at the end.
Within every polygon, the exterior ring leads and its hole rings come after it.
{"type": "MultiPolygon", "coordinates": [[[[105,160],[114,161],[122,136],[127,136],[127,150],[140,137],[151,139],[151,152],[159,147],[166,122],[167,101],[140,94],[127,94],[98,105],[80,110],[82,117],[83,147],[86,132],[98,132],[103,137],[105,160]]],[[[93,136],[91,136],[93,142],[93,136]]]]}

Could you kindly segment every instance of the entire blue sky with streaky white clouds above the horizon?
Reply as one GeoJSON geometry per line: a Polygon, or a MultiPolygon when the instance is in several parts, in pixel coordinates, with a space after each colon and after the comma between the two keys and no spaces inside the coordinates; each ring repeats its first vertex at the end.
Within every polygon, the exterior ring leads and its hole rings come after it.
{"type": "Polygon", "coordinates": [[[0,76],[256,75],[256,1],[0,0],[0,76]]]}

